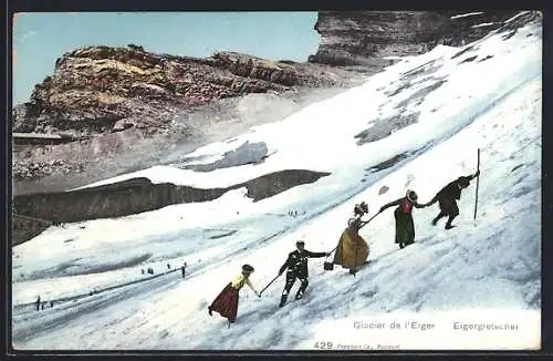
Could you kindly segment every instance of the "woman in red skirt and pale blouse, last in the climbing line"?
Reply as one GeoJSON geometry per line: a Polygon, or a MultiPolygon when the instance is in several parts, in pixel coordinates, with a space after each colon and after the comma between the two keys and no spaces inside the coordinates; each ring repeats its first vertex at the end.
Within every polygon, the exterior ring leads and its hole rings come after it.
{"type": "Polygon", "coordinates": [[[217,296],[211,306],[209,306],[209,316],[212,316],[211,312],[216,311],[227,318],[229,322],[234,322],[238,312],[238,292],[244,285],[248,285],[253,290],[255,296],[261,297],[250,282],[249,277],[252,272],[253,267],[250,265],[243,265],[242,274],[234,278],[232,282],[228,283],[219,296],[217,296]]]}

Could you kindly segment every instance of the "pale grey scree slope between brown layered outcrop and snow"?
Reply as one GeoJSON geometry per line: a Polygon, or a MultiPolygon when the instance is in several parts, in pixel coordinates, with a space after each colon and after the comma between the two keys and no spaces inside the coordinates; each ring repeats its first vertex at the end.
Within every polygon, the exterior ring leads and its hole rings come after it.
{"type": "Polygon", "coordinates": [[[13,194],[67,190],[154,165],[178,165],[199,146],[283,120],[342,91],[299,87],[282,95],[255,93],[223,99],[190,110],[168,134],[147,136],[131,127],[65,144],[14,146],[13,194]]]}

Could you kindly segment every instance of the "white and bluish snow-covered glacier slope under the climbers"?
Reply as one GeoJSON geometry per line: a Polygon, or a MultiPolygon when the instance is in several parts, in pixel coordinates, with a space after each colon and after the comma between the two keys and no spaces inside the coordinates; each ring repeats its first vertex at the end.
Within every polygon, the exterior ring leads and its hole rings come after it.
{"type": "Polygon", "coordinates": [[[211,188],[282,169],[332,173],[255,203],[246,189],[234,189],[212,202],[51,227],[14,247],[14,348],[538,348],[541,31],[534,23],[512,37],[491,33],[461,49],[438,47],[406,58],[282,122],[187,155],[194,164],[208,164],[246,142],[264,143],[269,156],[262,163],[211,172],[156,166],[97,183],[146,176],[211,188]],[[417,121],[401,125],[409,116],[417,121]],[[358,136],[376,130],[383,134],[373,142],[358,136]],[[399,250],[393,210],[386,210],[361,231],[371,262],[356,277],[340,267],[324,271],[324,259],[312,259],[303,300],[278,307],[282,276],[260,299],[241,291],[231,328],[218,314],[208,316],[207,306],[241,265],[255,268],[251,280],[260,290],[296,239],[309,250],[333,249],[355,203],[369,205],[367,218],[408,188],[425,203],[476,171],[477,148],[476,219],[473,180],[452,230],[444,229],[444,220],[430,225],[436,205],[415,209],[416,243],[399,250]],[[404,158],[375,171],[397,155],[404,158]],[[383,186],[389,189],[380,195],[383,186]],[[158,276],[167,264],[176,269],[184,261],[185,280],[180,272],[158,276]],[[148,267],[158,277],[142,275],[148,267]],[[34,311],[38,295],[54,307],[34,311]],[[390,329],[390,322],[399,328],[390,329]],[[471,329],[482,322],[501,329],[471,329]],[[378,323],[384,328],[375,329],[378,323]]]}

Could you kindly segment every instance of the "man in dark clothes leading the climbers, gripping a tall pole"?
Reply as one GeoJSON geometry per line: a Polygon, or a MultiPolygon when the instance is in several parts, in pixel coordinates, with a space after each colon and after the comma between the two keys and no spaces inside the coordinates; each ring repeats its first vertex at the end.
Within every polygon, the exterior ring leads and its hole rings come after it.
{"type": "Polygon", "coordinates": [[[470,185],[470,180],[478,177],[480,175],[480,171],[477,173],[461,176],[453,182],[449,183],[447,186],[441,188],[440,192],[436,194],[436,196],[427,203],[425,206],[429,206],[439,202],[440,213],[432,219],[432,226],[436,226],[438,220],[441,218],[449,216],[448,221],[446,223],[446,229],[451,229],[455,226],[451,226],[451,221],[453,218],[459,215],[459,207],[457,206],[456,199],[461,198],[461,190],[467,188],[470,185]]]}

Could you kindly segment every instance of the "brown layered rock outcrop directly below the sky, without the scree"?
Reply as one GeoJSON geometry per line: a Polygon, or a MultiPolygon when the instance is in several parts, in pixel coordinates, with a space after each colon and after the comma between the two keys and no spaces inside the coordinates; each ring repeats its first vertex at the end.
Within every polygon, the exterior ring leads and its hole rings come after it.
{"type": "Polygon", "coordinates": [[[138,127],[167,132],[191,107],[248,93],[334,86],[331,72],[233,52],[210,58],[156,54],[140,47],[65,53],[31,100],[13,111],[13,132],[90,136],[138,127]]]}

